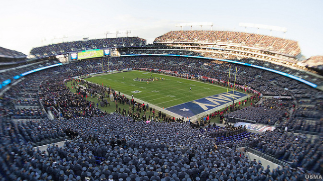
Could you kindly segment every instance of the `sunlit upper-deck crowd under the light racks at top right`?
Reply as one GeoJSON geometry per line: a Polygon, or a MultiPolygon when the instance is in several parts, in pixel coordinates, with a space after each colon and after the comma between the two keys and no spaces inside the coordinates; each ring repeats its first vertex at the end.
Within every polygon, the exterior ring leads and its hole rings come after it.
{"type": "Polygon", "coordinates": [[[171,31],[155,38],[154,40],[154,43],[163,42],[234,43],[248,47],[261,48],[264,50],[273,50],[295,56],[300,53],[298,43],[293,40],[231,31],[171,31]]]}

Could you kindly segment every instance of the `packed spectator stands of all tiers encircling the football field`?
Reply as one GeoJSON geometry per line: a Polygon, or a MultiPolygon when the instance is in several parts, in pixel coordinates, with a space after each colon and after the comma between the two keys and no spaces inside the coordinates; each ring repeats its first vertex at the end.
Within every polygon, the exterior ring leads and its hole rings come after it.
{"type": "MultiPolygon", "coordinates": [[[[309,72],[296,63],[290,64],[300,54],[297,42],[223,31],[172,31],[157,37],[153,46],[144,46],[145,42],[132,37],[48,45],[31,50],[31,54],[41,58],[4,67],[1,80],[10,79],[11,83],[0,88],[0,180],[256,181],[305,180],[306,174],[323,174],[323,92],[272,71],[205,58],[247,62],[321,83],[323,79],[315,70],[309,72]],[[289,63],[277,64],[232,52],[210,53],[204,51],[205,46],[178,46],[184,41],[203,41],[206,46],[243,44],[249,49],[280,54],[289,63]],[[82,47],[105,48],[104,45],[117,48],[121,56],[109,57],[109,61],[107,57],[98,57],[63,64],[56,58],[58,54],[83,50],[82,47]],[[50,65],[57,66],[22,74],[50,65]],[[79,84],[75,76],[128,68],[168,70],[164,73],[227,86],[230,67],[237,67],[237,84],[259,92],[248,92],[248,99],[257,99],[259,103],[240,109],[239,102],[225,108],[221,115],[214,112],[209,116],[271,125],[276,127],[274,131],[250,132],[232,124],[202,127],[173,120],[166,114],[156,115],[163,118],[155,119],[160,121],[147,123],[135,114],[103,112],[85,99],[81,89],[73,94],[67,86],[67,81],[74,86],[79,84]],[[14,79],[16,75],[21,77],[14,79]],[[64,141],[64,145],[57,146],[59,141],[64,141]],[[40,150],[36,147],[39,145],[47,146],[40,150]],[[276,160],[280,166],[273,168],[252,160],[248,150],[276,160]]],[[[230,82],[233,80],[230,77],[230,82]]],[[[135,105],[113,87],[91,85],[91,91],[107,95],[111,92],[117,102],[135,105]]]]}

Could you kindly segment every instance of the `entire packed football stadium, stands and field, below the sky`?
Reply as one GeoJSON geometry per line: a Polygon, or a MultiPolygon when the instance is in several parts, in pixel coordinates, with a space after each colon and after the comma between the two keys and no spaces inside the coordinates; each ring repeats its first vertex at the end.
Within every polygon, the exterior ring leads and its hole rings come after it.
{"type": "Polygon", "coordinates": [[[1,47],[0,180],[319,178],[323,57],[302,57],[294,40],[182,29],[1,47]]]}

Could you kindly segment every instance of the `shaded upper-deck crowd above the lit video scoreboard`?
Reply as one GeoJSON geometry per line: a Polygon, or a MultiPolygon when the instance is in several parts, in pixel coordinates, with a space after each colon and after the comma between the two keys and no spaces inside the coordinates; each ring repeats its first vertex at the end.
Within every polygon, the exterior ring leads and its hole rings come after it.
{"type": "Polygon", "coordinates": [[[36,47],[30,51],[30,54],[36,56],[52,56],[78,50],[114,47],[139,47],[145,45],[146,40],[139,37],[104,38],[88,41],[73,41],[36,47]]]}

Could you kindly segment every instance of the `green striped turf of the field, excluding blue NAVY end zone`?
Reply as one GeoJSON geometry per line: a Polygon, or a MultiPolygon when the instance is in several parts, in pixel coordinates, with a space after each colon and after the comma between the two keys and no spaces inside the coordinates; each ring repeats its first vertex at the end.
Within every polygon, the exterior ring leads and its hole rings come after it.
{"type": "MultiPolygon", "coordinates": [[[[190,102],[200,98],[217,95],[227,92],[226,87],[203,83],[184,78],[167,76],[164,74],[152,73],[153,77],[157,77],[157,81],[134,81],[135,78],[149,78],[150,72],[130,71],[122,73],[114,73],[109,75],[101,75],[85,80],[111,86],[116,91],[120,91],[126,95],[133,95],[135,98],[153,104],[160,108],[168,108],[182,103],[190,102]],[[124,78],[123,78],[124,77],[124,78]],[[159,80],[159,78],[165,80],[159,80]],[[192,91],[189,91],[192,87],[192,91]],[[132,93],[140,91],[140,93],[132,93]]],[[[231,89],[229,89],[231,91],[231,89]]]]}

